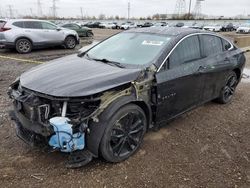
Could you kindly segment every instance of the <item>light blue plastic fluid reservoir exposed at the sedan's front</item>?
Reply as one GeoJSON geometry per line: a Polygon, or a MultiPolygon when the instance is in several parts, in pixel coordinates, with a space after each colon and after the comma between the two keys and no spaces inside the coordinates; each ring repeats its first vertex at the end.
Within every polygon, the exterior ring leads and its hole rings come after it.
{"type": "Polygon", "coordinates": [[[85,147],[85,133],[73,134],[70,120],[66,117],[55,117],[49,120],[54,129],[55,135],[51,136],[49,145],[61,152],[70,153],[76,150],[83,150],[85,147]]]}

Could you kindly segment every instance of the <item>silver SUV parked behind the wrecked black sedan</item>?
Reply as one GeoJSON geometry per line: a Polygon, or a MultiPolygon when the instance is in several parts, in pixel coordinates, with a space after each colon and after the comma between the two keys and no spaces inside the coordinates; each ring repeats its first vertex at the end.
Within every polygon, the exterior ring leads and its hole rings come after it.
{"type": "Polygon", "coordinates": [[[79,44],[78,34],[51,22],[34,19],[0,20],[0,46],[15,48],[19,53],[32,49],[64,45],[73,49],[79,44]]]}

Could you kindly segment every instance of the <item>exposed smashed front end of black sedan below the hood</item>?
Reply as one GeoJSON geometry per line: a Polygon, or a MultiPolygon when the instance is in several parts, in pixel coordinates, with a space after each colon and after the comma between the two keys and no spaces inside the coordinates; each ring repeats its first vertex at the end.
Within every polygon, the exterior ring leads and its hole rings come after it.
{"type": "Polygon", "coordinates": [[[14,103],[10,117],[21,140],[48,152],[68,153],[69,168],[84,166],[92,160],[94,155],[85,147],[85,134],[89,131],[89,117],[99,107],[98,97],[51,100],[21,88],[18,81],[12,84],[8,94],[14,103]],[[60,119],[66,119],[65,124],[60,124],[60,119]]]}

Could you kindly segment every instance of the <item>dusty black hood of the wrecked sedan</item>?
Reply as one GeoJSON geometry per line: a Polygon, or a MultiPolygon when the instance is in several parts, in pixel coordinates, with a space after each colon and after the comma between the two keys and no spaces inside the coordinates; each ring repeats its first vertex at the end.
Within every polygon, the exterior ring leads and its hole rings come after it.
{"type": "Polygon", "coordinates": [[[140,72],[70,55],[25,72],[20,84],[50,96],[83,97],[134,81],[140,72]]]}

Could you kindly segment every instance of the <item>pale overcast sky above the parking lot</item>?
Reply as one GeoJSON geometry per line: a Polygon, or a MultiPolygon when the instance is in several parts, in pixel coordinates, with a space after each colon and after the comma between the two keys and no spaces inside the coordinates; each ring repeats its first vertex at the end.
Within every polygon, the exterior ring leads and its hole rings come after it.
{"type": "MultiPolygon", "coordinates": [[[[45,15],[52,15],[52,0],[40,0],[45,15]]],[[[57,15],[76,17],[119,15],[127,17],[128,1],[131,3],[131,17],[152,16],[155,13],[172,14],[177,0],[56,0],[57,15]]],[[[192,9],[196,0],[192,0],[192,9]]],[[[188,7],[189,0],[186,0],[188,7]]],[[[8,6],[12,5],[13,14],[37,15],[37,0],[0,0],[0,16],[9,16],[8,6]]],[[[250,15],[250,0],[205,0],[202,2],[202,13],[213,16],[250,15]]]]}

